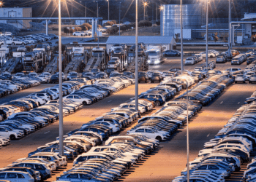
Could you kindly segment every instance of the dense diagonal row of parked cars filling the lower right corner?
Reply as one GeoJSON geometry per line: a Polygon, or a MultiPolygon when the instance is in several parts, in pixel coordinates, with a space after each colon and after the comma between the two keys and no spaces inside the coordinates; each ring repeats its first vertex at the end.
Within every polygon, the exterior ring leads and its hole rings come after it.
{"type": "MultiPolygon", "coordinates": [[[[255,97],[247,98],[244,105],[238,108],[236,114],[219,130],[214,139],[204,144],[198,157],[189,162],[191,180],[225,181],[234,171],[241,170],[241,165],[248,162],[250,152],[255,147],[255,97]]],[[[256,162],[247,165],[243,181],[255,181],[256,162]]],[[[187,167],[181,171],[181,176],[173,182],[187,180],[187,167]]]]}

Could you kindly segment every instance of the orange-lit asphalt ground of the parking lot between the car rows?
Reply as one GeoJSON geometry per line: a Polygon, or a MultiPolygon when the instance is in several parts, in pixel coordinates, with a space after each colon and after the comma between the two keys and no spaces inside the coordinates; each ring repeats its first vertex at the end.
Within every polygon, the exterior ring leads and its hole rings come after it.
{"type": "MultiPolygon", "coordinates": [[[[184,60],[186,56],[184,57],[184,60]]],[[[209,58],[215,60],[214,58],[209,58]]],[[[197,63],[194,66],[185,66],[184,69],[192,71],[195,67],[200,66],[203,62],[197,63]]],[[[167,71],[170,68],[180,67],[180,58],[167,58],[165,63],[157,66],[150,66],[150,70],[167,71]]],[[[224,71],[227,68],[241,68],[246,67],[246,63],[240,66],[231,66],[230,62],[217,64],[215,70],[224,71]]],[[[139,84],[139,92],[145,92],[156,84],[139,84]]],[[[1,98],[1,103],[20,98],[37,92],[46,87],[51,87],[53,84],[41,84],[37,87],[32,87],[13,95],[1,98]]],[[[208,106],[204,107],[197,116],[193,117],[189,122],[189,158],[190,161],[197,157],[198,151],[203,149],[203,143],[214,138],[214,135],[225,125],[228,119],[236,112],[236,110],[244,103],[245,98],[249,98],[252,92],[255,91],[254,84],[232,84],[230,87],[219,95],[216,100],[213,100],[208,106]]],[[[129,98],[135,95],[135,85],[131,85],[124,90],[116,92],[108,98],[100,100],[91,106],[83,106],[83,109],[64,118],[64,133],[75,130],[82,124],[101,116],[110,111],[121,103],[126,102],[129,98]]],[[[161,106],[154,108],[151,113],[159,110],[161,106]]],[[[122,130],[119,134],[126,134],[132,126],[122,130]]],[[[186,140],[186,126],[179,129],[170,139],[160,143],[159,149],[154,151],[154,154],[138,162],[137,165],[131,167],[125,175],[119,178],[118,181],[171,181],[174,177],[180,175],[181,170],[186,167],[187,163],[187,140],[186,140]]],[[[55,141],[59,136],[59,122],[50,124],[50,126],[37,130],[19,141],[12,141],[10,146],[4,147],[0,151],[0,167],[5,167],[16,159],[27,157],[27,154],[34,151],[39,146],[45,143],[55,141]],[[18,149],[18,150],[17,150],[18,149]]],[[[72,166],[69,163],[67,169],[72,166]]],[[[66,169],[65,169],[66,170],[66,169]]],[[[56,180],[53,175],[48,181],[56,180]]]]}

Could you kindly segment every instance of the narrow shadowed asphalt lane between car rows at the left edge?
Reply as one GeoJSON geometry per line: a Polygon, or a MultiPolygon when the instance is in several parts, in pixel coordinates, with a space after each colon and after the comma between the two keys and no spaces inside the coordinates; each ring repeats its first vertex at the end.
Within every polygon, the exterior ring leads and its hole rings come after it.
{"type": "Polygon", "coordinates": [[[34,92],[39,92],[45,88],[53,87],[54,85],[56,84],[39,84],[39,86],[37,87],[31,87],[26,90],[21,90],[20,92],[15,92],[14,94],[11,94],[11,95],[6,95],[0,99],[0,104],[7,103],[18,98],[26,97],[34,92]]]}

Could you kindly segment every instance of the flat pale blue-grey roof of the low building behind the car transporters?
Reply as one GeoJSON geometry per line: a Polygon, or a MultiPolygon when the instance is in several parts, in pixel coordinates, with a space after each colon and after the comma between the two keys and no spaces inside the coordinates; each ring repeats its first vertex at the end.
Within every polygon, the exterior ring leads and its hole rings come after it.
{"type": "MultiPolygon", "coordinates": [[[[170,44],[173,36],[138,36],[144,44],[170,44]]],[[[135,36],[109,36],[107,44],[135,44],[135,36]]]]}

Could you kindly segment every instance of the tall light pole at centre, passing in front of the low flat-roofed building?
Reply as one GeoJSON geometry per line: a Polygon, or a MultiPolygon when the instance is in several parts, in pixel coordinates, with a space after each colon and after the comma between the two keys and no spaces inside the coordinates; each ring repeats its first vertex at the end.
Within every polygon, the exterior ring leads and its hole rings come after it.
{"type": "Polygon", "coordinates": [[[136,20],[135,20],[135,110],[138,111],[139,96],[139,73],[138,73],[138,0],[136,0],[136,20]]]}

